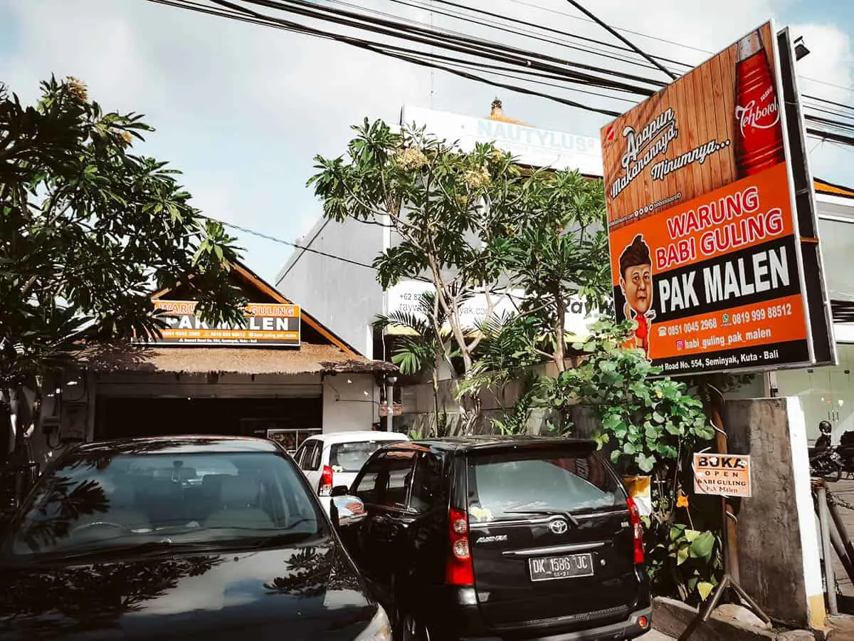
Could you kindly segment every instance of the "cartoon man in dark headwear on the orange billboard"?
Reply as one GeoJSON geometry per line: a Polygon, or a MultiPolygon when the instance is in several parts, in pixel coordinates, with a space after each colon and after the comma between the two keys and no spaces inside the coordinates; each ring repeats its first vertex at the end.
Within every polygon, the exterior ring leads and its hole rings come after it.
{"type": "Polygon", "coordinates": [[[638,234],[620,254],[620,289],[626,297],[623,314],[636,321],[635,346],[649,356],[650,322],[655,318],[652,309],[652,255],[649,245],[638,234]]]}

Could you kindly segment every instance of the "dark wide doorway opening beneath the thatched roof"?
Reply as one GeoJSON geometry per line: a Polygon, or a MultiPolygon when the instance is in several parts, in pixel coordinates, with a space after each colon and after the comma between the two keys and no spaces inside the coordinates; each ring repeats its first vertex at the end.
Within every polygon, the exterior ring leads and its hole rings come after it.
{"type": "Polygon", "coordinates": [[[96,438],[178,434],[266,436],[266,429],[320,432],[323,399],[98,397],[96,438]]]}

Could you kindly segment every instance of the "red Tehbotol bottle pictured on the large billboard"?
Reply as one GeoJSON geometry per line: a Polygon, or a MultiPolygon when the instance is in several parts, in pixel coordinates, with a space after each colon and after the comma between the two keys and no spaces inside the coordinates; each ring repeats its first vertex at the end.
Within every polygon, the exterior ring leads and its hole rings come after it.
{"type": "Polygon", "coordinates": [[[738,44],[735,68],[735,164],[738,178],[784,162],[781,104],[759,30],[738,44]]]}

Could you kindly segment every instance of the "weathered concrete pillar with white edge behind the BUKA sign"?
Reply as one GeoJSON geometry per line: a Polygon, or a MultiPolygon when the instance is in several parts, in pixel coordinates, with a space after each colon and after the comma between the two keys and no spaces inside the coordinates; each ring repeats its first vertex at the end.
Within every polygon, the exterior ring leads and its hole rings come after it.
{"type": "Polygon", "coordinates": [[[740,583],[771,618],[825,621],[804,411],[797,397],[728,401],[728,450],[749,454],[752,498],[737,506],[740,583]]]}

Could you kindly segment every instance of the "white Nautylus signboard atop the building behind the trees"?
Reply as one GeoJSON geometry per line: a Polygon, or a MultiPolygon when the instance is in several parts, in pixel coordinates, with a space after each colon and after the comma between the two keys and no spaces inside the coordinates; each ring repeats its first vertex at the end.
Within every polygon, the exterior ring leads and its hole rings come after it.
{"type": "Polygon", "coordinates": [[[522,165],[577,169],[588,176],[602,175],[599,138],[404,105],[401,124],[413,122],[419,127],[425,126],[427,133],[440,140],[457,141],[462,150],[473,150],[476,143],[491,142],[500,150],[517,156],[522,165]]]}

